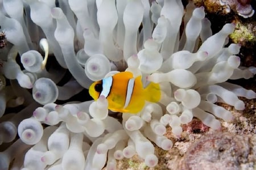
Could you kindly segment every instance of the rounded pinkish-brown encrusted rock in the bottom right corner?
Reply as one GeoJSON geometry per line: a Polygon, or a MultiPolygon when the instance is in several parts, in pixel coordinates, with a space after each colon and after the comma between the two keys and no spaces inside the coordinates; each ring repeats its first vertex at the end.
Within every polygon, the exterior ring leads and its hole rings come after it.
{"type": "Polygon", "coordinates": [[[179,169],[242,169],[255,162],[255,138],[214,131],[189,147],[179,169]]]}

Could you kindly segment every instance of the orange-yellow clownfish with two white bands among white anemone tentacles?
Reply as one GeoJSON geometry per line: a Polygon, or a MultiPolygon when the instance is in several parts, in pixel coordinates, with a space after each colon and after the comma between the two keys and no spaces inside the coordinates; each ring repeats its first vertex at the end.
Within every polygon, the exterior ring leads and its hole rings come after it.
{"type": "Polygon", "coordinates": [[[146,100],[156,103],[161,96],[158,83],[151,82],[143,88],[141,76],[134,78],[128,71],[92,83],[89,94],[94,100],[101,95],[105,96],[111,111],[124,113],[138,113],[146,100]]]}

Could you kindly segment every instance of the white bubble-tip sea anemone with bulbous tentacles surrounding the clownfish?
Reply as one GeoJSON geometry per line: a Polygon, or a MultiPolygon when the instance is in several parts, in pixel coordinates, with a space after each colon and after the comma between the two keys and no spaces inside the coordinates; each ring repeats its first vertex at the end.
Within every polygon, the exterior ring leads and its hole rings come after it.
{"type": "Polygon", "coordinates": [[[8,41],[0,50],[0,143],[13,142],[0,152],[1,170],[116,169],[116,160],[135,154],[155,167],[152,143],[163,150],[173,145],[164,135],[167,126],[179,137],[181,125],[197,117],[220,129],[218,118],[232,121],[233,115],[216,102],[241,111],[245,104],[238,97],[256,98],[226,82],[256,73],[255,67],[240,67],[241,45],[228,41],[236,25],[212,35],[204,7],[192,2],[185,10],[181,0],[0,5],[0,31],[8,41]],[[61,69],[46,69],[48,54],[61,69]],[[159,83],[160,101],[146,102],[137,114],[123,113],[122,120],[110,116],[104,96],[58,104],[124,69],[142,75],[144,86],[159,83]],[[72,78],[60,86],[67,70],[72,78]],[[19,112],[4,114],[19,105],[19,112]]]}

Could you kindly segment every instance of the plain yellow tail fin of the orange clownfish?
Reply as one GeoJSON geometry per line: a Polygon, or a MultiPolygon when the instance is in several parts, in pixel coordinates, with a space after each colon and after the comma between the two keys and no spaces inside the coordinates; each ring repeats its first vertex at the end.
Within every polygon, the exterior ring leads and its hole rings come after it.
{"type": "Polygon", "coordinates": [[[151,102],[158,102],[161,98],[160,85],[158,83],[151,82],[144,89],[144,96],[146,96],[145,100],[151,102]]]}

